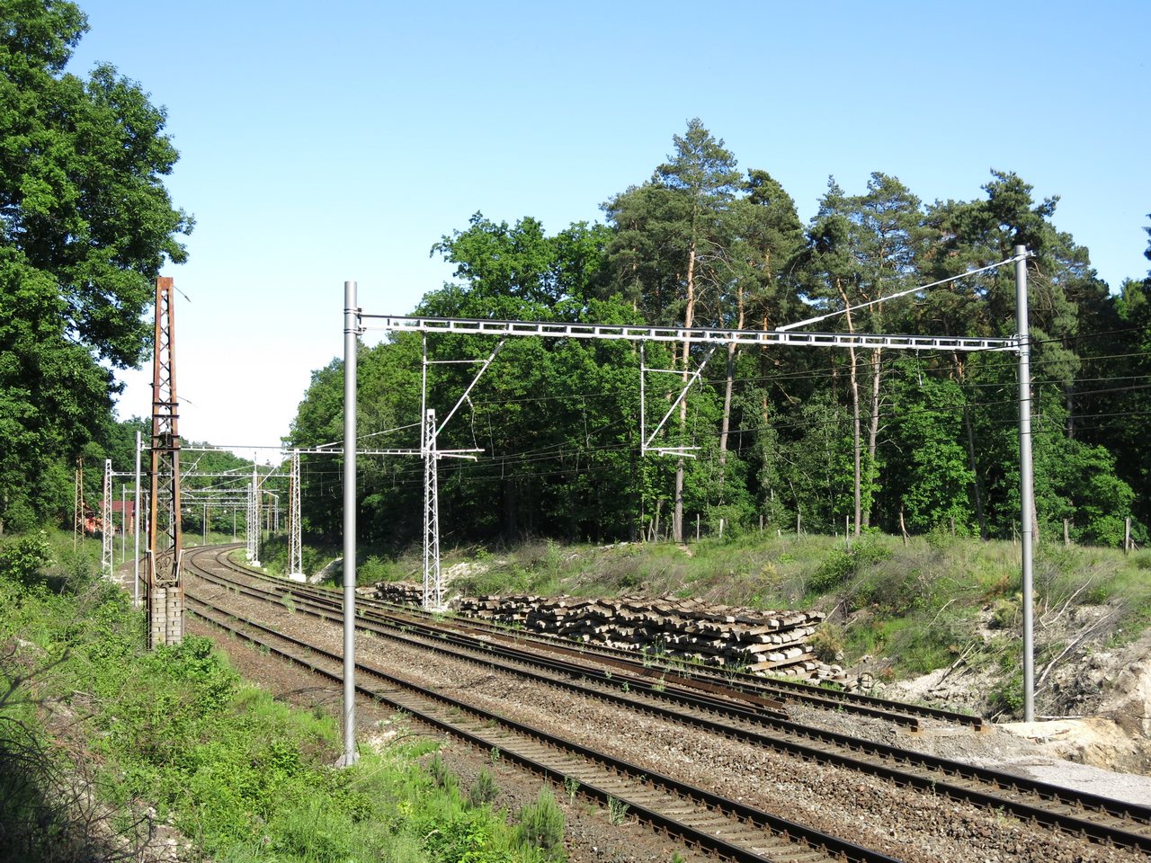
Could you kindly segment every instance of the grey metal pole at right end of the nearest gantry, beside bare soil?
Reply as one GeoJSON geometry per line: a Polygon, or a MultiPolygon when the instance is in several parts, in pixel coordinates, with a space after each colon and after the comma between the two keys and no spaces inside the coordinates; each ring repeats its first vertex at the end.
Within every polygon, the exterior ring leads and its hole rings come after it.
{"type": "Polygon", "coordinates": [[[1015,246],[1019,326],[1019,483],[1023,545],[1023,721],[1035,721],[1035,474],[1031,463],[1031,344],[1027,319],[1027,246],[1015,246]]]}

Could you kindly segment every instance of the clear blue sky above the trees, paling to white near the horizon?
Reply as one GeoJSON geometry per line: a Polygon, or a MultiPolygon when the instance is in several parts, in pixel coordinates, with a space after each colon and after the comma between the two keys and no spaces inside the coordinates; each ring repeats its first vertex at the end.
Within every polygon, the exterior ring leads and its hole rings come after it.
{"type": "MultiPolygon", "coordinates": [[[[342,352],[344,280],[409,312],[471,214],[601,219],[695,116],[803,220],[829,175],[932,201],[1014,170],[1113,290],[1148,272],[1148,2],[79,5],[69,70],[138,81],[181,152],[185,437],[277,443],[342,352]]],[[[123,379],[121,415],[146,415],[148,373],[123,379]]]]}

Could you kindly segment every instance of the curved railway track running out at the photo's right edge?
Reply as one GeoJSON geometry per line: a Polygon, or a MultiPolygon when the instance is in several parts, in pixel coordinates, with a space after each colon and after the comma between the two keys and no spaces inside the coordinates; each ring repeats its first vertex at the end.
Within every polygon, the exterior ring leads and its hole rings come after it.
{"type": "MultiPolygon", "coordinates": [[[[253,599],[290,603],[295,611],[334,625],[342,621],[342,597],[334,591],[254,573],[229,560],[227,555],[230,550],[212,548],[190,551],[189,562],[196,574],[209,583],[253,599]],[[288,596],[290,598],[285,599],[288,596]]],[[[190,596],[196,593],[192,590],[190,596]]],[[[190,610],[200,613],[196,605],[190,605],[190,610]]],[[[205,616],[208,613],[205,610],[205,616]]],[[[477,636],[465,635],[458,629],[444,631],[430,619],[418,614],[396,614],[390,608],[360,608],[358,617],[358,628],[411,648],[436,650],[457,659],[525,675],[533,682],[610,701],[624,710],[660,716],[806,762],[846,767],[931,795],[945,795],[996,812],[1009,812],[1026,822],[1097,842],[1151,851],[1151,809],[1146,807],[799,725],[780,715],[779,702],[768,698],[757,697],[756,701],[763,703],[733,702],[716,692],[701,697],[702,693],[692,687],[651,680],[645,675],[622,681],[610,669],[578,664],[558,658],[554,652],[534,654],[523,640],[508,644],[488,633],[477,636]]],[[[276,634],[275,637],[283,636],[276,634]]],[[[304,664],[311,667],[308,663],[304,664]]],[[[340,675],[338,667],[335,674],[340,675]]],[[[650,774],[650,771],[645,772],[650,774]]],[[[576,779],[582,782],[578,777],[576,779]]]]}

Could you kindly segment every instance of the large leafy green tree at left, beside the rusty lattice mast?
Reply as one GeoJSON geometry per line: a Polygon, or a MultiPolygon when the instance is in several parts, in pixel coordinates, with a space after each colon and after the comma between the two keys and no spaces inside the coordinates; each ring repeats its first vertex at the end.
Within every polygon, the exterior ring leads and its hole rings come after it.
{"type": "Polygon", "coordinates": [[[66,71],[87,29],[58,0],[0,1],[0,525],[70,507],[70,463],[109,443],[114,369],[192,220],[163,185],[166,114],[108,64],[66,71]]]}

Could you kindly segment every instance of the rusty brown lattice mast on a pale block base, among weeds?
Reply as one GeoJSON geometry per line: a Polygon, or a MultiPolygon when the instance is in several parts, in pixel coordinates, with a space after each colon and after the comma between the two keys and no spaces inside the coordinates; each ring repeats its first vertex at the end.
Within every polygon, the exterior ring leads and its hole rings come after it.
{"type": "Polygon", "coordinates": [[[180,432],[176,403],[173,281],[155,280],[155,352],[152,358],[152,468],[147,529],[148,647],[178,644],[184,635],[180,578],[180,432]]]}

